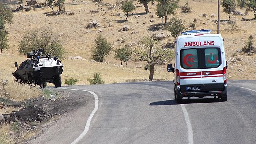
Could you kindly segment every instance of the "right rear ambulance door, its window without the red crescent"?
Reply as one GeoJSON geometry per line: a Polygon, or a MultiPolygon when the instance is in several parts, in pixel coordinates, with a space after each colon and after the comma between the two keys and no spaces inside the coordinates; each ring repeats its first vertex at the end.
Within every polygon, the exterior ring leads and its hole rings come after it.
{"type": "Polygon", "coordinates": [[[224,88],[224,67],[226,65],[223,54],[222,37],[200,37],[202,42],[211,42],[211,45],[200,46],[202,49],[202,91],[222,91],[224,88]]]}

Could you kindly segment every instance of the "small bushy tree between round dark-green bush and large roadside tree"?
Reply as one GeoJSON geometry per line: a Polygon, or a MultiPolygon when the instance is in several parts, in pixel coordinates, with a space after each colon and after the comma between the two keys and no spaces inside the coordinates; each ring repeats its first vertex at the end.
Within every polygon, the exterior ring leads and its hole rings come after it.
{"type": "Polygon", "coordinates": [[[122,48],[118,48],[114,52],[115,52],[114,58],[116,58],[117,60],[120,60],[121,65],[123,65],[122,61],[124,61],[127,66],[128,61],[132,59],[132,49],[127,45],[125,45],[122,48]]]}

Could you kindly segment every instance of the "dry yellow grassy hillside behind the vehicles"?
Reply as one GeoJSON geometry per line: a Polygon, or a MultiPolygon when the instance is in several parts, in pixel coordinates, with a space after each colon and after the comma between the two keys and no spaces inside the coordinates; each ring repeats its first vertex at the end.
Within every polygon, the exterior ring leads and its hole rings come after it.
{"type": "MultiPolygon", "coordinates": [[[[44,2],[45,0],[37,0],[44,2]]],[[[180,5],[185,5],[187,0],[180,0],[180,5]]],[[[18,0],[3,0],[13,9],[19,6],[18,0]]],[[[103,0],[103,3],[116,4],[117,0],[103,0]]],[[[176,10],[176,16],[185,20],[186,26],[197,19],[195,22],[196,29],[212,29],[216,33],[217,26],[214,20],[217,20],[217,0],[189,0],[191,13],[182,13],[181,9],[176,10]],[[202,15],[206,14],[206,17],[202,15]],[[213,15],[213,16],[212,16],[213,15]]],[[[60,39],[67,53],[64,55],[62,63],[64,71],[62,76],[63,85],[65,76],[78,79],[76,84],[89,84],[87,78],[92,78],[93,73],[100,73],[101,78],[105,83],[125,82],[130,79],[148,79],[149,71],[144,70],[145,62],[128,62],[128,67],[120,67],[120,61],[113,58],[113,52],[106,57],[104,63],[91,62],[91,49],[94,46],[94,40],[97,35],[102,34],[109,42],[112,43],[113,49],[124,46],[127,43],[137,42],[141,37],[153,34],[165,34],[167,37],[160,41],[162,44],[173,42],[174,38],[170,36],[170,32],[157,29],[152,31],[150,28],[160,27],[161,19],[157,17],[155,5],[149,4],[150,14],[145,14],[143,5],[133,2],[136,9],[132,11],[126,22],[126,16],[120,7],[98,5],[90,0],[66,0],[65,10],[74,12],[74,15],[46,16],[46,12],[50,12],[50,8],[34,9],[29,12],[19,11],[14,13],[13,24],[7,24],[6,30],[9,32],[8,40],[10,48],[4,50],[0,56],[0,75],[1,79],[14,79],[14,62],[20,64],[26,60],[26,57],[20,55],[18,51],[19,40],[23,33],[36,28],[49,28],[56,34],[61,34],[60,39]],[[121,14],[121,15],[118,15],[121,14]],[[88,22],[97,20],[101,25],[97,29],[86,29],[88,22]],[[113,23],[109,27],[109,23],[113,23]],[[131,26],[129,31],[119,31],[125,24],[131,26]],[[99,31],[101,29],[101,31],[99,31]],[[138,33],[132,34],[132,31],[138,33]],[[118,41],[119,40],[119,41],[118,41]],[[123,41],[123,43],[121,43],[123,41]],[[69,57],[80,56],[83,60],[71,60],[69,57]],[[135,66],[142,65],[142,68],[135,66]]],[[[26,4],[24,4],[26,5],[26,4]]],[[[57,10],[57,8],[54,8],[57,10]]],[[[238,8],[237,8],[238,10],[238,8]]],[[[221,11],[222,8],[221,8],[221,11]]],[[[245,10],[241,10],[244,12],[245,10]]],[[[171,16],[169,16],[171,18],[171,16]]],[[[228,60],[240,58],[240,61],[229,61],[228,76],[229,79],[256,79],[255,55],[246,56],[246,54],[236,52],[237,49],[242,49],[246,44],[250,35],[255,36],[256,22],[251,20],[253,12],[249,12],[245,16],[233,16],[232,20],[236,21],[237,27],[241,27],[240,31],[223,31],[228,24],[221,24],[220,33],[225,38],[226,58],[228,60]],[[245,20],[242,20],[245,17],[245,20]],[[235,54],[236,53],[236,54],[235,54]],[[242,72],[238,70],[242,69],[242,72]]],[[[221,20],[227,20],[228,15],[221,12],[221,20]]],[[[156,66],[154,79],[172,80],[172,73],[168,73],[166,65],[156,66]]]]}

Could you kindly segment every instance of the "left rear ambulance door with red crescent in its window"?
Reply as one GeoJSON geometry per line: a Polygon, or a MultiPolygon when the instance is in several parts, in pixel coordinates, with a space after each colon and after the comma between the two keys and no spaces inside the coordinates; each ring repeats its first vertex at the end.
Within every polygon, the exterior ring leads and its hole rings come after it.
{"type": "Polygon", "coordinates": [[[202,74],[199,68],[198,47],[193,46],[193,42],[200,41],[200,38],[184,35],[177,40],[180,91],[181,93],[198,92],[202,89],[202,74]]]}

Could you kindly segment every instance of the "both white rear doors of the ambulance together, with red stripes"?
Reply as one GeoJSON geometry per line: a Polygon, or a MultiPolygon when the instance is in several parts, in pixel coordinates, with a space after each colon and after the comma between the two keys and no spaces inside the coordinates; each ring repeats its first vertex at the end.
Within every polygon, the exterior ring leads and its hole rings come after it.
{"type": "Polygon", "coordinates": [[[222,38],[204,35],[190,35],[178,42],[182,93],[223,90],[222,38]]]}

